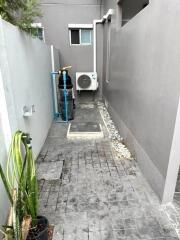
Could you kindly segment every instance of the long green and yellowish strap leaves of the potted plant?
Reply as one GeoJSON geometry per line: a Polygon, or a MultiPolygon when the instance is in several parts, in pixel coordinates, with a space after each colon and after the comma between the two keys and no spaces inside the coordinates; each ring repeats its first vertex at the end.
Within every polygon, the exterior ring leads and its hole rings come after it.
{"type": "Polygon", "coordinates": [[[17,131],[9,151],[6,176],[0,167],[0,175],[13,207],[14,237],[18,240],[21,239],[20,226],[25,215],[32,217],[33,226],[37,223],[38,184],[30,141],[28,134],[17,131]],[[17,189],[15,200],[12,197],[14,188],[17,189]]]}

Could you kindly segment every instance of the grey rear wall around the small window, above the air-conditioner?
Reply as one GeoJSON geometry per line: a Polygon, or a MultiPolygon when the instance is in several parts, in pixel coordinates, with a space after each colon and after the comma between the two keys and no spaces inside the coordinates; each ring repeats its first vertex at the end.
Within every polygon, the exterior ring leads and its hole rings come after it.
{"type": "MultiPolygon", "coordinates": [[[[70,46],[68,24],[92,24],[101,16],[101,0],[41,0],[43,18],[39,21],[45,27],[48,44],[60,49],[61,66],[72,65],[71,76],[76,72],[93,72],[93,43],[90,46],[70,46]]],[[[98,26],[98,76],[102,79],[102,27],[98,26]]],[[[101,93],[101,87],[99,89],[101,93]]]]}

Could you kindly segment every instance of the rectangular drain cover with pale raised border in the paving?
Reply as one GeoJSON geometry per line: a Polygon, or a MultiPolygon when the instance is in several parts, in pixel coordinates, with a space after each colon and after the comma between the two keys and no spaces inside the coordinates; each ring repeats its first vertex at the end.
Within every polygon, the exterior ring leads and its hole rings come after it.
{"type": "Polygon", "coordinates": [[[67,138],[102,138],[103,136],[101,124],[96,122],[70,123],[67,132],[67,138]]]}

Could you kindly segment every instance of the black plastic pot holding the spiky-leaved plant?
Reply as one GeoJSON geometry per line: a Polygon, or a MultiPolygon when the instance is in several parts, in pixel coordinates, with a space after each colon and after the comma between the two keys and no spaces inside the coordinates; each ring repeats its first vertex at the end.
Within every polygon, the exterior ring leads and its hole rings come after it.
{"type": "Polygon", "coordinates": [[[29,233],[28,238],[29,240],[48,240],[48,225],[49,222],[47,218],[43,216],[37,217],[37,231],[33,231],[29,233]],[[40,229],[38,229],[40,228],[40,229]]]}

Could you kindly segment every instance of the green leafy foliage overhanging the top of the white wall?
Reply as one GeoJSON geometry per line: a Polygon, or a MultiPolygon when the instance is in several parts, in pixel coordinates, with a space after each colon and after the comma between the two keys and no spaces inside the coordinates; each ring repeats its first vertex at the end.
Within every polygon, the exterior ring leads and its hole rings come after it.
{"type": "Polygon", "coordinates": [[[0,0],[0,16],[28,32],[34,20],[41,16],[39,1],[0,0]]]}

